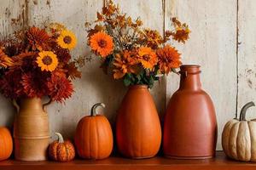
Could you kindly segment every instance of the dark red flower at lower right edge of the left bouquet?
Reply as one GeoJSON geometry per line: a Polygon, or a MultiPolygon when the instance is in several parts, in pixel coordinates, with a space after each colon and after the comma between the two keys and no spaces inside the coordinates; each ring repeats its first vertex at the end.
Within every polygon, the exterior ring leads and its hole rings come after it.
{"type": "Polygon", "coordinates": [[[59,102],[71,97],[73,84],[66,77],[52,76],[47,83],[50,98],[59,102]]]}

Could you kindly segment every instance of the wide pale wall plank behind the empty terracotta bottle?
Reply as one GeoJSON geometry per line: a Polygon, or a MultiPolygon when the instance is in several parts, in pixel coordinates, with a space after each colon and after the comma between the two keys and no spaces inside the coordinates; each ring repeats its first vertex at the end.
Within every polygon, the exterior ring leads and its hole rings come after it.
{"type": "MultiPolygon", "coordinates": [[[[203,88],[212,97],[218,117],[218,144],[224,123],[236,114],[236,0],[166,0],[166,29],[177,16],[191,29],[189,42],[177,45],[183,64],[201,65],[203,88]]],[[[179,77],[167,77],[167,99],[179,77]]]]}

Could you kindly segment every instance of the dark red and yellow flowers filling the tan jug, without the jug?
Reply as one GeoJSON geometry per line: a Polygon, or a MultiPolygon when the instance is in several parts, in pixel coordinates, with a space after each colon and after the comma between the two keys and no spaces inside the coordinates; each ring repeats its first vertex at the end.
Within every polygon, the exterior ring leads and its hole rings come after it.
{"type": "Polygon", "coordinates": [[[81,77],[70,50],[76,37],[54,23],[32,26],[0,41],[0,90],[9,99],[42,98],[63,102],[73,94],[74,78],[81,77]]]}

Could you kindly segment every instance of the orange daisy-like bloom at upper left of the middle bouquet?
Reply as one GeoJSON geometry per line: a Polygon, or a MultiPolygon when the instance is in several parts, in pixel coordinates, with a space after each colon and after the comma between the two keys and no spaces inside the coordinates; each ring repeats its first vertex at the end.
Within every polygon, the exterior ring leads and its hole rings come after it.
{"type": "Polygon", "coordinates": [[[97,32],[90,37],[90,48],[96,54],[107,57],[113,52],[113,38],[105,32],[97,32]]]}

